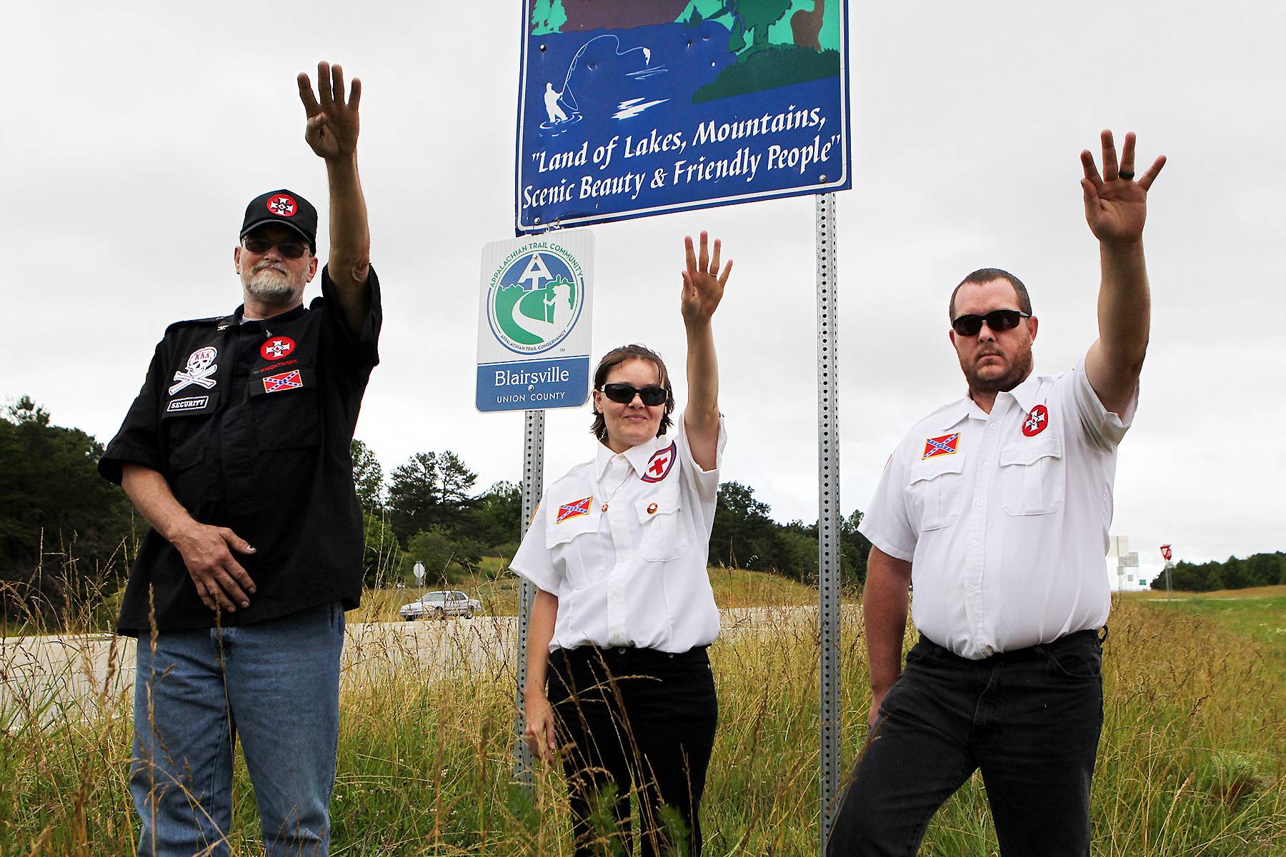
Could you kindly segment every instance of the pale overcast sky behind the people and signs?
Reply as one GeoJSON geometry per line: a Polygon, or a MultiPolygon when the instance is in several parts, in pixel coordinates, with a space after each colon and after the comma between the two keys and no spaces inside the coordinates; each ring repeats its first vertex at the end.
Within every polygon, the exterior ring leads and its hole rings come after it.
{"type": "MultiPolygon", "coordinates": [[[[358,437],[386,470],[450,448],[480,490],[517,481],[522,416],[478,414],[473,371],[480,249],[513,235],[520,8],[8,8],[0,396],[28,393],[55,423],[112,437],[166,324],[239,303],[231,254],[247,200],[288,186],[324,209],[294,75],[325,58],[365,87],[359,154],[387,314],[358,437]]],[[[1190,560],[1286,549],[1283,9],[849,5],[845,513],[867,506],[909,425],[963,392],[945,303],[964,274],[998,266],[1026,281],[1038,371],[1088,348],[1098,254],[1078,153],[1097,153],[1111,127],[1138,132],[1141,170],[1169,157],[1148,200],[1152,337],[1112,531],[1145,576],[1161,542],[1190,560]]],[[[715,317],[723,477],[781,520],[814,520],[811,198],[594,227],[594,353],[642,340],[682,374],[682,239],[701,229],[737,262],[715,317]]],[[[589,420],[588,406],[550,411],[548,477],[592,455],[589,420]]]]}

